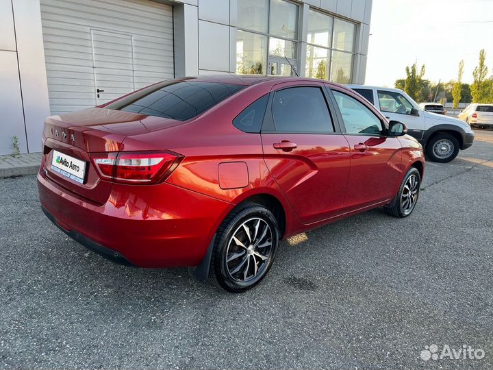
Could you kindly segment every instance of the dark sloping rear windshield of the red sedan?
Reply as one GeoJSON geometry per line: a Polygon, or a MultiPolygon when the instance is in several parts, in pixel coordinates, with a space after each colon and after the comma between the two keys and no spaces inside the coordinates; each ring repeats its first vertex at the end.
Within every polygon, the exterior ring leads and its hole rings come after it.
{"type": "Polygon", "coordinates": [[[105,108],[186,121],[242,88],[241,85],[218,82],[163,82],[115,101],[105,108]]]}

